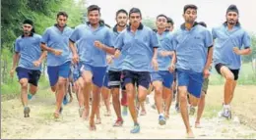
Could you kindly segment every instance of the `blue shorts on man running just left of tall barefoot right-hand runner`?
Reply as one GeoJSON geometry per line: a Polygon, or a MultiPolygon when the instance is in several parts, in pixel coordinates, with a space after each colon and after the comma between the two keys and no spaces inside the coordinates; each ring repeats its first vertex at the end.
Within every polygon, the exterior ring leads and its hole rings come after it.
{"type": "Polygon", "coordinates": [[[160,80],[164,87],[171,89],[171,84],[173,82],[173,74],[168,70],[151,72],[151,81],[154,82],[157,80],[160,80]]]}

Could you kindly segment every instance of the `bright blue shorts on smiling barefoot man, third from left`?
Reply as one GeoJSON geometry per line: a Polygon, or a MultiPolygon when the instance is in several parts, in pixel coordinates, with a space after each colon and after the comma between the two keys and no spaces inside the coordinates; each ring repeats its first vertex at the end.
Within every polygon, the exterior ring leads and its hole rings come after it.
{"type": "Polygon", "coordinates": [[[102,87],[103,86],[104,76],[105,76],[105,73],[106,73],[106,67],[93,67],[91,65],[83,63],[81,70],[91,71],[92,74],[93,74],[93,83],[97,87],[102,87]]]}

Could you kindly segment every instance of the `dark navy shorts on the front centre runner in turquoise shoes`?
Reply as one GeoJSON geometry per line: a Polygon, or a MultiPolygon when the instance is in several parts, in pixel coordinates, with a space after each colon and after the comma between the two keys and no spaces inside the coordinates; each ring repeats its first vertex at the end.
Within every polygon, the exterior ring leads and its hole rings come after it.
{"type": "Polygon", "coordinates": [[[141,85],[145,88],[149,88],[151,82],[151,75],[149,71],[132,71],[123,70],[124,85],[127,83],[132,83],[137,86],[141,85]]]}

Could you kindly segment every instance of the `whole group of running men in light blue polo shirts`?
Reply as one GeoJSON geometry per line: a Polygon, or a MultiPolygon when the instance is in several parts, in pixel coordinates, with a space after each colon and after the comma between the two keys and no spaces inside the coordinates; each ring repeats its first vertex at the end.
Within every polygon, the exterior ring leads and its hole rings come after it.
{"type": "Polygon", "coordinates": [[[89,22],[75,29],[67,25],[68,15],[59,12],[57,23],[47,27],[42,36],[34,32],[31,20],[25,20],[24,32],[15,42],[16,53],[11,70],[12,76],[16,70],[19,77],[25,117],[30,117],[28,98],[31,99],[37,91],[41,63],[47,56],[49,82],[56,96],[54,117],[58,118],[62,112],[68,77],[72,74],[79,115],[90,118],[91,130],[96,130],[99,95],[102,91],[103,98],[108,99],[108,88],[117,117],[114,126],[123,124],[122,104],[128,106],[134,121],[130,132],[140,132],[137,106],[143,105],[150,86],[155,90],[159,123],[165,124],[172,90],[175,90],[172,88],[173,78],[176,76],[177,103],[186,134],[187,137],[194,137],[189,114],[193,115],[195,107],[199,106],[195,126],[200,127],[212,65],[225,78],[224,108],[220,115],[230,118],[230,102],[241,67],[240,56],[251,53],[250,36],[238,22],[239,12],[235,5],[227,8],[226,22],[214,27],[212,32],[205,23],[196,22],[197,9],[195,5],[184,6],[184,23],[175,32],[172,32],[173,22],[165,15],[157,17],[156,30],[144,25],[138,8],[132,8],[129,13],[123,9],[117,11],[116,25],[112,29],[100,20],[100,8],[96,5],[88,7],[89,22]],[[74,70],[70,72],[70,68],[74,70]],[[101,90],[102,86],[106,91],[101,90]],[[93,101],[90,116],[91,88],[93,101]],[[135,105],[135,100],[138,105],[135,105]]]}

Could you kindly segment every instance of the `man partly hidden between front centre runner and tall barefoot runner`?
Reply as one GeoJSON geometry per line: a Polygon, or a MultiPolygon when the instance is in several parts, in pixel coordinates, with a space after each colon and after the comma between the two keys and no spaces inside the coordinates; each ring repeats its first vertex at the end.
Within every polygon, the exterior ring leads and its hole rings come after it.
{"type": "Polygon", "coordinates": [[[171,83],[173,81],[173,75],[168,70],[171,63],[172,55],[174,54],[172,46],[172,34],[168,30],[165,30],[167,23],[167,17],[159,15],[157,17],[157,36],[160,42],[158,63],[159,70],[153,70],[151,72],[151,80],[155,89],[155,102],[157,105],[158,112],[160,114],[159,123],[160,125],[165,124],[165,117],[169,116],[169,107],[171,104],[171,83]],[[164,98],[162,98],[164,97],[164,98]],[[165,117],[163,117],[162,103],[165,101],[165,117]]]}

